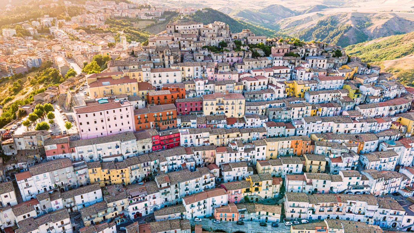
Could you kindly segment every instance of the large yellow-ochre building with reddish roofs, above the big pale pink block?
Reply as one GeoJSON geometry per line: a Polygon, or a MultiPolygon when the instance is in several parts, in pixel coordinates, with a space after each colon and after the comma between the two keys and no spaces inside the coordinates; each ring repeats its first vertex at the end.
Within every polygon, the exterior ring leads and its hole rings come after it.
{"type": "Polygon", "coordinates": [[[138,81],[121,72],[109,72],[100,74],[87,74],[86,80],[89,88],[89,96],[101,98],[127,94],[138,95],[138,81]]]}

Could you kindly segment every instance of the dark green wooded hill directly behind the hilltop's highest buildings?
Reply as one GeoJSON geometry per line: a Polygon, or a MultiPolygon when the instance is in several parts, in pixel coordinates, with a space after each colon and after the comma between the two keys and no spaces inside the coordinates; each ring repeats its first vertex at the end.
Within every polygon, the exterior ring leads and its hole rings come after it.
{"type": "Polygon", "coordinates": [[[276,31],[267,29],[261,26],[257,26],[248,22],[243,22],[239,19],[233,19],[227,14],[221,13],[217,10],[211,8],[205,8],[208,12],[204,13],[201,10],[198,10],[192,15],[183,16],[183,18],[177,18],[182,21],[196,21],[202,22],[203,24],[209,24],[214,21],[221,21],[226,24],[229,24],[230,30],[232,32],[240,32],[243,29],[250,29],[254,34],[258,36],[275,36],[276,31]]]}

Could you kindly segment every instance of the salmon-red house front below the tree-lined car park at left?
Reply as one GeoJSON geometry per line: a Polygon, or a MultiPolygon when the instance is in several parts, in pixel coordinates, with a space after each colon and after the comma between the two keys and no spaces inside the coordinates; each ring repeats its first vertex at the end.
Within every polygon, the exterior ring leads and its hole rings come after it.
{"type": "Polygon", "coordinates": [[[46,159],[48,161],[51,161],[53,159],[60,159],[63,158],[63,156],[70,158],[68,137],[56,139],[48,138],[44,141],[44,146],[46,159]]]}

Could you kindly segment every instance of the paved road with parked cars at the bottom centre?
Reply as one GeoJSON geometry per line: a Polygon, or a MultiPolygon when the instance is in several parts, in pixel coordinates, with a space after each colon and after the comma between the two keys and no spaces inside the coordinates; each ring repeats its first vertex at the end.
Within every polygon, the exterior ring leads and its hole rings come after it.
{"type": "Polygon", "coordinates": [[[192,226],[195,226],[195,224],[202,224],[203,228],[207,231],[210,231],[210,228],[212,228],[213,231],[222,229],[226,232],[243,231],[243,229],[245,231],[254,232],[260,232],[260,230],[279,233],[290,232],[290,226],[285,226],[283,223],[279,223],[279,227],[272,227],[272,223],[267,223],[267,226],[260,226],[260,223],[253,221],[245,221],[244,225],[237,225],[236,222],[222,221],[221,223],[214,223],[212,220],[209,219],[201,220],[201,222],[194,222],[194,219],[190,219],[190,224],[192,226]]]}

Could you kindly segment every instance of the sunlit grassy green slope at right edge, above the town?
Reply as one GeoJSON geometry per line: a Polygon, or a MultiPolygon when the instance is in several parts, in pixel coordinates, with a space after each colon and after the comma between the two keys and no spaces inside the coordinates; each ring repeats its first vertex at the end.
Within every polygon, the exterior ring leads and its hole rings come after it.
{"type": "Polygon", "coordinates": [[[358,56],[366,62],[398,59],[414,53],[414,32],[350,45],[345,49],[349,56],[358,56]]]}

